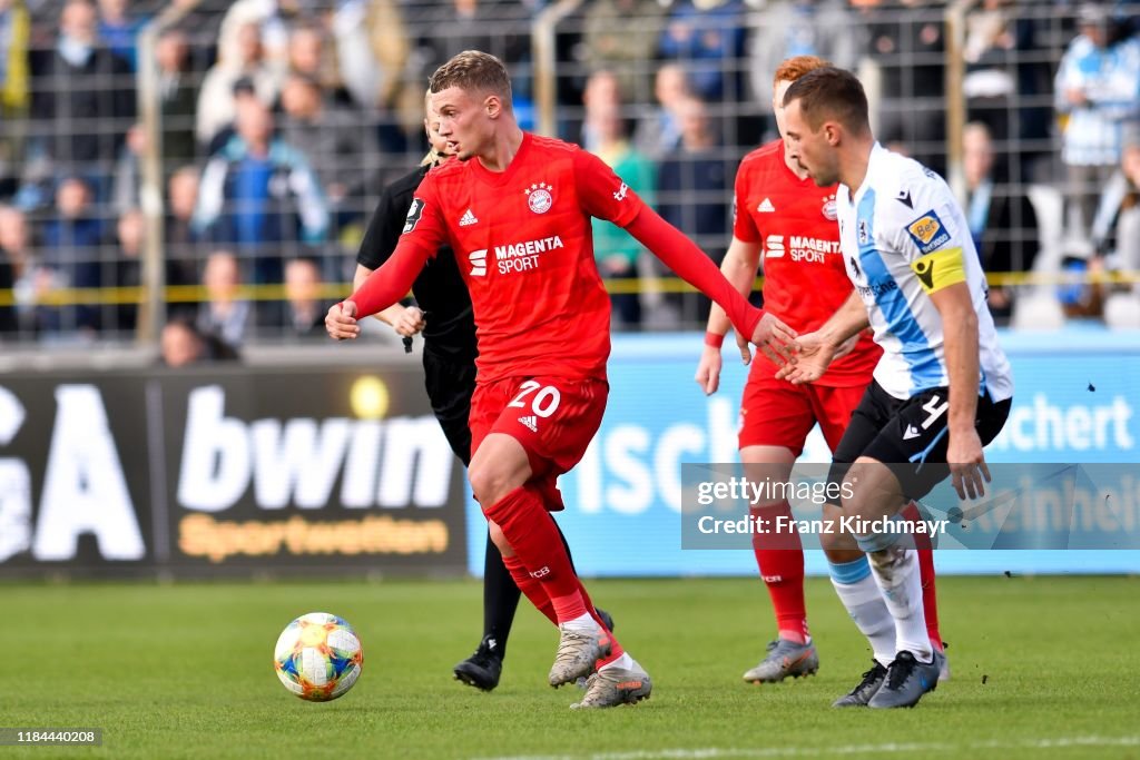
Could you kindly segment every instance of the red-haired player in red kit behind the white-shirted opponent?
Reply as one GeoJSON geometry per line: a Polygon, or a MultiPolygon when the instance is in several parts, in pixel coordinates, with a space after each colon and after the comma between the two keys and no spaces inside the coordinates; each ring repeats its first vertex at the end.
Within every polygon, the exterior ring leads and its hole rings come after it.
{"type": "MultiPolygon", "coordinates": [[[[825,65],[814,56],[798,56],[784,60],[776,70],[773,109],[781,134],[783,93],[800,76],[825,65]]],[[[839,251],[836,186],[816,187],[807,172],[788,157],[783,139],[774,140],[741,162],[735,210],[733,240],[722,271],[747,294],[763,252],[765,310],[779,314],[799,333],[817,329],[852,294],[839,251]]],[[[724,310],[714,305],[697,369],[697,382],[706,393],[716,392],[719,384],[720,344],[728,328],[724,310]]],[[[836,450],[882,353],[868,332],[857,335],[845,349],[846,356],[834,361],[823,377],[804,385],[777,379],[777,368],[767,359],[757,358],[752,363],[741,400],[739,444],[741,461],[752,466],[758,480],[787,481],[816,423],[828,446],[836,450]]],[[[754,514],[768,521],[787,515],[790,521],[791,508],[788,501],[759,504],[754,514]]],[[[752,548],[772,599],[779,634],[768,644],[766,656],[743,678],[750,683],[775,683],[789,676],[814,673],[820,660],[807,627],[799,534],[757,533],[752,548]]],[[[840,599],[866,635],[877,661],[886,668],[895,659],[895,628],[886,604],[873,593],[876,586],[866,556],[857,550],[831,550],[828,562],[840,599]]],[[[940,653],[934,558],[928,542],[920,547],[919,563],[927,634],[935,651],[940,653]]],[[[940,657],[939,663],[944,662],[940,657]]]]}

